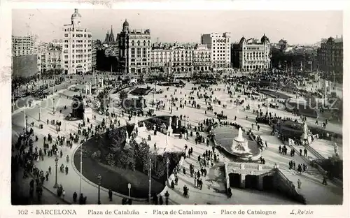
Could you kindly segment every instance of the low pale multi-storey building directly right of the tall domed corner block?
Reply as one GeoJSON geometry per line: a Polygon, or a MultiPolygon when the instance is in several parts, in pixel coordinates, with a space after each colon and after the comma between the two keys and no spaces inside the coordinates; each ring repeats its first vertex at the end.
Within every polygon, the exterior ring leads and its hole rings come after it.
{"type": "Polygon", "coordinates": [[[151,50],[151,71],[153,73],[166,73],[166,76],[169,76],[171,72],[173,59],[173,50],[172,48],[158,45],[153,46],[151,50]]]}

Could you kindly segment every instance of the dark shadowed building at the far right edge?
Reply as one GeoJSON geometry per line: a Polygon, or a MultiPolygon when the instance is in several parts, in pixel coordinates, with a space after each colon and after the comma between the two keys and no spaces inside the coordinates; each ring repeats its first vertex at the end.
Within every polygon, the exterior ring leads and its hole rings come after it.
{"type": "Polygon", "coordinates": [[[342,81],[343,74],[343,37],[328,38],[321,41],[318,48],[318,69],[333,75],[332,80],[342,81]]]}

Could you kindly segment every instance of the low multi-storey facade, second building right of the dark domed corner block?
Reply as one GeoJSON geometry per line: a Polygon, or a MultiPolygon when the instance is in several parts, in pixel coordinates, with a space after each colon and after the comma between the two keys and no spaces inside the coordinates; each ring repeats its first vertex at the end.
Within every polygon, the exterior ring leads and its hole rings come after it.
{"type": "Polygon", "coordinates": [[[190,78],[193,73],[193,48],[174,46],[172,50],[172,75],[174,78],[190,78]]]}

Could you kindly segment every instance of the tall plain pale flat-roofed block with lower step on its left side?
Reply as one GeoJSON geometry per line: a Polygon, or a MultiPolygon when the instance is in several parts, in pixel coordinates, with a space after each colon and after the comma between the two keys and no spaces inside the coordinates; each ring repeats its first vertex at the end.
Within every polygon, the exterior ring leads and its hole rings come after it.
{"type": "Polygon", "coordinates": [[[211,51],[211,64],[214,70],[231,66],[231,37],[229,34],[202,34],[201,36],[201,43],[207,45],[211,51]]]}

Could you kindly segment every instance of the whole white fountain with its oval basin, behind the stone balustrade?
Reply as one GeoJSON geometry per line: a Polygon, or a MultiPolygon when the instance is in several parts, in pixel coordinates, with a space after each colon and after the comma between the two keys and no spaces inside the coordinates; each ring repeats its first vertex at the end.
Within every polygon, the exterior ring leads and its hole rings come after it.
{"type": "Polygon", "coordinates": [[[261,157],[258,144],[254,140],[245,138],[241,128],[238,129],[236,136],[230,128],[218,127],[212,131],[215,134],[216,146],[221,147],[228,157],[233,157],[238,161],[258,161],[261,157]]]}

